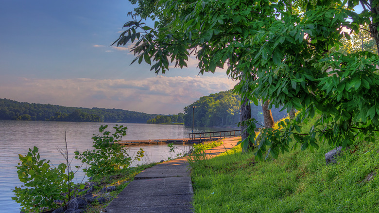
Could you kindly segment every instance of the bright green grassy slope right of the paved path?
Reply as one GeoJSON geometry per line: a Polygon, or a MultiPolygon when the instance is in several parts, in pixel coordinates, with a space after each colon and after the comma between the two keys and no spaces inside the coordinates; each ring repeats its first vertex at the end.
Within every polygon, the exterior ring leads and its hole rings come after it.
{"type": "MultiPolygon", "coordinates": [[[[378,139],[378,138],[377,138],[378,139]]],[[[378,141],[378,140],[377,140],[378,141]]],[[[379,144],[357,142],[338,164],[326,165],[333,149],[295,150],[277,160],[255,161],[234,153],[193,165],[194,211],[203,212],[379,212],[379,144]]]]}

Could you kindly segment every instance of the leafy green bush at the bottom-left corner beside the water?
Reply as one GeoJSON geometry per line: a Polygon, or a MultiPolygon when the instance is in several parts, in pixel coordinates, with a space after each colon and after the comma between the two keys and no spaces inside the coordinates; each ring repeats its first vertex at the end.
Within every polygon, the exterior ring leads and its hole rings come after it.
{"type": "Polygon", "coordinates": [[[27,155],[19,154],[20,163],[17,166],[19,180],[24,184],[12,190],[12,197],[22,206],[22,211],[41,212],[44,208],[55,208],[54,200],[68,200],[63,193],[67,193],[73,172],[65,174],[67,165],[61,163],[57,168],[50,166],[50,160],[40,159],[38,148],[29,149],[27,155]]]}

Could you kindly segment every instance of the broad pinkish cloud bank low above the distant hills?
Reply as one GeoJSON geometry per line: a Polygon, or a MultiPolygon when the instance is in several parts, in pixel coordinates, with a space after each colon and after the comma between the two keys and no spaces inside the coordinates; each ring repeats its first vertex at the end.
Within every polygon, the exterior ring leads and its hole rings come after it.
{"type": "Polygon", "coordinates": [[[0,97],[29,103],[174,114],[201,96],[232,89],[235,84],[226,76],[216,75],[142,80],[24,78],[18,84],[1,84],[0,97]]]}

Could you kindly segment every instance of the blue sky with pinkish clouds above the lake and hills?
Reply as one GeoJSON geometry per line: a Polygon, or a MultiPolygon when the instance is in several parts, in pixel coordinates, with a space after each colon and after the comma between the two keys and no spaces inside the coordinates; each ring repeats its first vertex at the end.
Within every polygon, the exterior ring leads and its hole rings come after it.
{"type": "Polygon", "coordinates": [[[110,45],[132,10],[128,0],[2,0],[0,98],[177,114],[234,87],[225,70],[198,75],[194,58],[158,75],[131,65],[128,46],[110,45]]]}

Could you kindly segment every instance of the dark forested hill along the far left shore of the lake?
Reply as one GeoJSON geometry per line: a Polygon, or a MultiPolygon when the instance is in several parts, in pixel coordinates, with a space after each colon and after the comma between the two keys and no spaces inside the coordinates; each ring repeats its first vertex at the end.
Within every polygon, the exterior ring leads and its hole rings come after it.
{"type": "Polygon", "coordinates": [[[123,109],[29,104],[0,99],[0,120],[146,123],[155,116],[123,109]]]}

